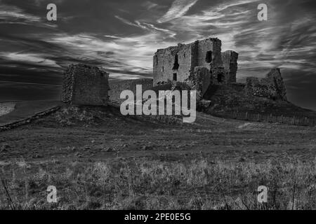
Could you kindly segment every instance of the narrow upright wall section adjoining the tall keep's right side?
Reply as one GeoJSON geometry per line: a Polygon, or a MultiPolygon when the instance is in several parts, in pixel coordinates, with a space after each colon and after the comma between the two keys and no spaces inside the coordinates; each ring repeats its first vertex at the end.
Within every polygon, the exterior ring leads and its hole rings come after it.
{"type": "Polygon", "coordinates": [[[225,83],[236,83],[237,59],[238,53],[232,50],[226,50],[221,53],[225,83]]]}

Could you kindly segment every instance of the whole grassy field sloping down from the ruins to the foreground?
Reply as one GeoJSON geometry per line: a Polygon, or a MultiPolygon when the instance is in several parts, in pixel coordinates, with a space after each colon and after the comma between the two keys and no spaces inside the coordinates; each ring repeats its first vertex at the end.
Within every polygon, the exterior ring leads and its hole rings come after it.
{"type": "Polygon", "coordinates": [[[0,133],[1,209],[316,209],[315,127],[63,108],[0,133]],[[46,201],[48,186],[58,203],[46,201]],[[257,202],[258,186],[268,203],[257,202]]]}

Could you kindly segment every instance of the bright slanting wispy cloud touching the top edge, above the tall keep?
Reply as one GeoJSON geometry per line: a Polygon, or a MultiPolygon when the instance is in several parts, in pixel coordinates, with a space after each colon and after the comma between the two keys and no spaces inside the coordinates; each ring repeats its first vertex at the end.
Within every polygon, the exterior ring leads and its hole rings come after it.
{"type": "Polygon", "coordinates": [[[180,18],[185,15],[187,11],[197,3],[198,0],[176,0],[173,1],[171,8],[169,8],[168,12],[162,16],[157,22],[168,22],[170,20],[180,18]]]}

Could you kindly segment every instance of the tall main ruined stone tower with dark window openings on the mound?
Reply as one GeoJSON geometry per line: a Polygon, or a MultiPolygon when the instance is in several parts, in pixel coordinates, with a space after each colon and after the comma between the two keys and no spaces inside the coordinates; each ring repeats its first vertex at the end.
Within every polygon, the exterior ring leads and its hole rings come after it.
{"type": "Polygon", "coordinates": [[[223,82],[225,75],[220,50],[218,38],[157,50],[153,62],[154,86],[171,81],[185,82],[196,66],[209,69],[211,80],[223,82]]]}

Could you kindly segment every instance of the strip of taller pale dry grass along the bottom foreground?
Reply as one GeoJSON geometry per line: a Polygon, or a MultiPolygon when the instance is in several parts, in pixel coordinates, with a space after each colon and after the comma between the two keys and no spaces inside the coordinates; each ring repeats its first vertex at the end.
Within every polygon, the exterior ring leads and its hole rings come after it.
{"type": "MultiPolygon", "coordinates": [[[[54,163],[1,181],[1,209],[316,209],[314,162],[54,163]],[[57,167],[56,167],[57,166],[57,167]],[[58,167],[59,166],[59,167],[58,167]],[[47,186],[58,203],[46,202],[47,186]],[[268,203],[257,202],[267,186],[268,203]]],[[[26,169],[17,167],[16,170],[26,169]]],[[[14,169],[11,169],[14,170],[14,169]]]]}

